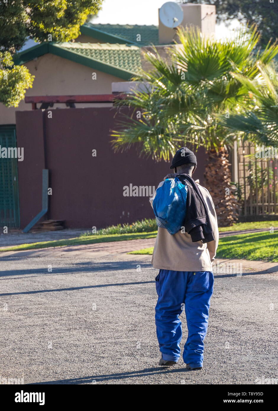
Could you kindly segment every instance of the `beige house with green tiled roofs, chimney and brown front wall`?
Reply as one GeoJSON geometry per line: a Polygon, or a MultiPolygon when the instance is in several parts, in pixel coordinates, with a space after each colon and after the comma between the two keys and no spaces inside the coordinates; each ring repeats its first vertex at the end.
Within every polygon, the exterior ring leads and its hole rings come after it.
{"type": "MultiPolygon", "coordinates": [[[[204,34],[214,31],[215,6],[181,6],[181,25],[195,24],[204,34]]],[[[128,81],[146,67],[143,51],[154,44],[165,55],[176,35],[161,21],[158,26],[86,23],[80,31],[74,42],[43,42],[15,56],[17,65],[24,64],[35,75],[26,97],[101,96],[111,94],[112,83],[123,83],[120,91],[126,91],[128,81]]],[[[123,200],[121,187],[131,182],[153,187],[164,177],[167,165],[139,158],[135,150],[128,155],[115,154],[110,137],[115,109],[111,102],[100,100],[78,103],[74,109],[71,104],[55,102],[51,119],[47,111],[40,110],[45,108],[43,104],[38,110],[32,110],[25,101],[17,108],[0,104],[0,146],[24,148],[24,161],[0,159],[1,226],[24,228],[39,213],[43,169],[49,170],[53,192],[47,213],[50,219],[64,219],[72,228],[100,228],[151,217],[148,201],[138,202],[132,197],[123,200]],[[140,173],[131,181],[134,166],[140,173]],[[100,172],[101,181],[95,178],[100,172]],[[125,184],[118,180],[119,175],[125,184]],[[109,188],[100,189],[102,182],[109,188]]],[[[202,179],[202,166],[199,173],[202,179]]]]}

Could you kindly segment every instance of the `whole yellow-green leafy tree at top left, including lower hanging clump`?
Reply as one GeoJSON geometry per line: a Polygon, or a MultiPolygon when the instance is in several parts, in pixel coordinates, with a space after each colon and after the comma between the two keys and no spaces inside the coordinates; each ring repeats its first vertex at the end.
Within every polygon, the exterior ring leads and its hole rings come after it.
{"type": "Polygon", "coordinates": [[[68,42],[79,36],[80,25],[96,14],[102,0],[0,1],[0,102],[17,107],[33,76],[16,66],[12,55],[30,38],[35,42],[68,42]]]}

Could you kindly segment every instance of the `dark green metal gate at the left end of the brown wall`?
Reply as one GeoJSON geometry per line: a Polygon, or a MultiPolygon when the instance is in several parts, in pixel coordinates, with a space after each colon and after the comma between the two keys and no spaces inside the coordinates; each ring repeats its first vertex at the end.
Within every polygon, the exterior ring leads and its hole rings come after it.
{"type": "MultiPolygon", "coordinates": [[[[0,149],[16,147],[15,126],[0,125],[0,149]]],[[[17,158],[2,158],[0,151],[0,230],[19,227],[19,187],[17,158]]]]}

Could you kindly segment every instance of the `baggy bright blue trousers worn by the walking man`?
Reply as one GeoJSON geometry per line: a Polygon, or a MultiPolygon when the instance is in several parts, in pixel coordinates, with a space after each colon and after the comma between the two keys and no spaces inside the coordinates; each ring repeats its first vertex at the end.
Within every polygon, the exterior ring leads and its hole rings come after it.
{"type": "Polygon", "coordinates": [[[213,273],[159,270],[155,286],[158,293],[155,325],[162,358],[178,361],[180,357],[182,328],[179,316],[185,309],[188,338],[184,345],[183,361],[192,367],[202,367],[213,273]]]}

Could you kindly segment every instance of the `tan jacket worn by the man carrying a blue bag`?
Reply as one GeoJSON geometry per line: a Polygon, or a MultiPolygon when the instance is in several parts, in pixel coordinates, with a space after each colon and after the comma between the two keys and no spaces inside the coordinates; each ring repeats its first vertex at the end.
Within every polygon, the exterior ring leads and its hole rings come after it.
{"type": "MultiPolygon", "coordinates": [[[[199,180],[196,180],[199,183],[199,180]]],[[[163,181],[158,185],[161,187],[163,181]]],[[[203,244],[202,241],[192,242],[188,233],[178,231],[176,234],[168,233],[164,228],[158,227],[151,264],[153,268],[163,268],[173,271],[212,271],[211,263],[215,259],[218,246],[218,226],[214,204],[208,190],[198,184],[209,210],[209,218],[213,229],[214,241],[203,244]]],[[[153,198],[150,199],[153,206],[153,198]]]]}

